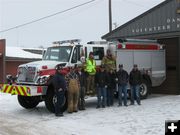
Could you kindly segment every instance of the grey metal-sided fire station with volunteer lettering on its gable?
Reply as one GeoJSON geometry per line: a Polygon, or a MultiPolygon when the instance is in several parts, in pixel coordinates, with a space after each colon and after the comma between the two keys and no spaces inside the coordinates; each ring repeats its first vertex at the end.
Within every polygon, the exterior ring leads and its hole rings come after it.
{"type": "Polygon", "coordinates": [[[180,0],[166,0],[102,39],[156,39],[166,48],[166,81],[153,93],[180,94],[180,0]]]}

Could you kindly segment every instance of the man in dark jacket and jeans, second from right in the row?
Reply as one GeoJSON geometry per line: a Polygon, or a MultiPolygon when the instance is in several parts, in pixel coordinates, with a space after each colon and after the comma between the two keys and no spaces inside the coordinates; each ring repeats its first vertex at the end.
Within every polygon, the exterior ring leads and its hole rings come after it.
{"type": "Polygon", "coordinates": [[[119,64],[119,71],[117,72],[118,77],[118,99],[119,106],[122,106],[122,93],[124,94],[124,106],[127,106],[127,84],[129,75],[127,71],[123,69],[123,65],[119,64]]]}

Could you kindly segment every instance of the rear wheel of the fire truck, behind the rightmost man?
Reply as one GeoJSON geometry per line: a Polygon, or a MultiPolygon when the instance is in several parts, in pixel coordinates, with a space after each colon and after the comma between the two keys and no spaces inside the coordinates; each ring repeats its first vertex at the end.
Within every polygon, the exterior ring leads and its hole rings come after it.
{"type": "Polygon", "coordinates": [[[150,91],[150,83],[143,79],[142,83],[140,84],[140,96],[141,99],[146,99],[150,91]]]}

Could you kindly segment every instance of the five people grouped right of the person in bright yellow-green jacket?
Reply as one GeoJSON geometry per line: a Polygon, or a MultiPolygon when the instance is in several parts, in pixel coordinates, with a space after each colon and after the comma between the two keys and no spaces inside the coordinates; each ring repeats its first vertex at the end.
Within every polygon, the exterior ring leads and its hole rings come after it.
{"type": "Polygon", "coordinates": [[[141,72],[138,70],[137,64],[134,64],[130,74],[123,69],[123,64],[119,64],[119,70],[116,71],[116,60],[107,50],[107,55],[103,58],[100,66],[100,71],[95,75],[95,84],[97,91],[97,107],[104,108],[113,105],[114,91],[118,88],[118,106],[128,106],[128,84],[130,84],[131,91],[130,101],[134,105],[134,100],[138,105],[141,105],[140,100],[140,84],[142,82],[141,72]]]}

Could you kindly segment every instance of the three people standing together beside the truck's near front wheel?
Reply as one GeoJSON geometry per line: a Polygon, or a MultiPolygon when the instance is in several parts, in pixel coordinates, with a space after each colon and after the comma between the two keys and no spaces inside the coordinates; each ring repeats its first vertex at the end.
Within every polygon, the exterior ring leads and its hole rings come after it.
{"type": "Polygon", "coordinates": [[[67,93],[68,113],[85,110],[84,97],[87,81],[84,69],[75,65],[66,73],[64,66],[64,64],[56,66],[56,73],[52,80],[55,90],[55,115],[59,117],[63,116],[65,93],[67,93]]]}

